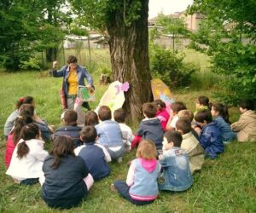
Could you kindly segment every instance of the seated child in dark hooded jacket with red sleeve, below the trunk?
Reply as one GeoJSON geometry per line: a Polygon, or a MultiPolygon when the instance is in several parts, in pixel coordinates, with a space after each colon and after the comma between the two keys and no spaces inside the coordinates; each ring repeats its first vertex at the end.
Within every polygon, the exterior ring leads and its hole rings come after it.
{"type": "Polygon", "coordinates": [[[144,103],[143,115],[145,118],[137,130],[135,139],[131,142],[131,148],[136,147],[143,138],[154,141],[157,151],[161,152],[164,130],[162,129],[160,120],[155,118],[156,107],[154,107],[154,105],[149,102],[144,103]]]}

